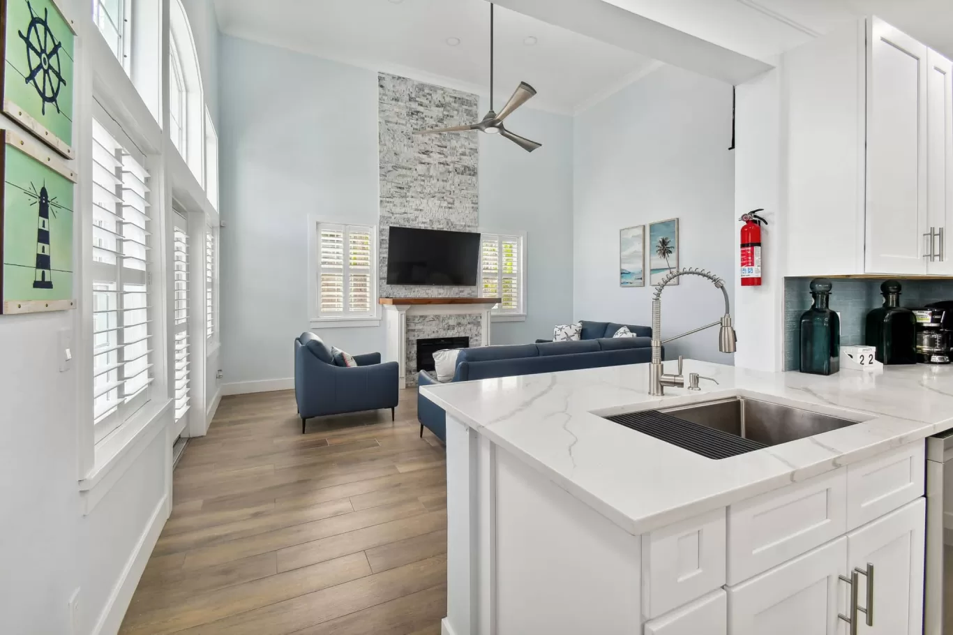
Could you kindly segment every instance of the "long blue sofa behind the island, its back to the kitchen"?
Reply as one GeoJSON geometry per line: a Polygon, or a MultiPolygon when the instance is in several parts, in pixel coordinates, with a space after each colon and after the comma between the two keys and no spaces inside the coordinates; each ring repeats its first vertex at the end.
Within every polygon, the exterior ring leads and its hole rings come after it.
{"type": "MultiPolygon", "coordinates": [[[[629,330],[632,330],[632,327],[629,327],[629,330]]],[[[664,358],[664,350],[662,350],[662,357],[664,358]]],[[[641,364],[651,360],[651,338],[591,338],[576,341],[541,341],[536,344],[512,346],[482,346],[460,351],[456,358],[456,373],[451,380],[468,381],[515,375],[537,375],[580,368],[641,364]]],[[[425,371],[417,374],[418,386],[436,383],[436,379],[425,371]]],[[[446,441],[446,413],[443,408],[424,397],[419,388],[417,389],[417,420],[420,421],[421,436],[426,427],[439,440],[446,441]]]]}

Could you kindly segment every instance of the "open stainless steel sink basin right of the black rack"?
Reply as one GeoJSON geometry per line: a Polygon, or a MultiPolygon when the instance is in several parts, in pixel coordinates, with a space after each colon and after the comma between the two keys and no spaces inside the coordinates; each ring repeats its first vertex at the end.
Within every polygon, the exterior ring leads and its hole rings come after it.
{"type": "Polygon", "coordinates": [[[813,437],[861,422],[745,397],[664,408],[659,412],[765,446],[813,437]]]}

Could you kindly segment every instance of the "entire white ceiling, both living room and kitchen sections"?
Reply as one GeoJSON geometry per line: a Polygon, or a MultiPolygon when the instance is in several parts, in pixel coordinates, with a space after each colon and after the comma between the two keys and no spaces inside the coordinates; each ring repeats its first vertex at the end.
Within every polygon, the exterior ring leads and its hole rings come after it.
{"type": "MultiPolygon", "coordinates": [[[[576,0],[546,0],[554,8],[572,1],[576,0]]],[[[604,1],[769,63],[818,33],[870,14],[953,57],[953,0],[604,1]]],[[[490,9],[486,0],[214,3],[221,30],[231,35],[375,71],[487,92],[490,9]],[[448,46],[450,37],[459,38],[460,44],[448,46]]],[[[497,6],[496,11],[497,109],[525,81],[538,92],[530,107],[578,113],[659,66],[638,52],[513,10],[497,6]],[[536,46],[525,46],[524,39],[531,36],[537,38],[536,46]]],[[[638,42],[631,48],[638,51],[638,42]]]]}

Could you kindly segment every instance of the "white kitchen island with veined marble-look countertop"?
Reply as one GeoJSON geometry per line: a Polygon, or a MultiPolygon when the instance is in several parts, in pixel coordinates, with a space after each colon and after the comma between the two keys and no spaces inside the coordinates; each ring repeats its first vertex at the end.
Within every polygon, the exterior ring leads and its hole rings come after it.
{"type": "Polygon", "coordinates": [[[444,633],[846,633],[868,561],[863,632],[919,632],[923,440],[953,427],[953,369],[689,373],[711,380],[652,397],[639,364],[421,389],[447,412],[444,633]],[[738,397],[858,422],[713,460],[604,419],[738,397]]]}

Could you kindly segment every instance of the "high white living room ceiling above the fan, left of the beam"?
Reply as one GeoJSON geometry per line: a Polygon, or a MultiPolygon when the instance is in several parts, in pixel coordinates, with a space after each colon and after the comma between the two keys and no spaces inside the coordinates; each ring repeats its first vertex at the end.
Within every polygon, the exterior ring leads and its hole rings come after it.
{"type": "MultiPolygon", "coordinates": [[[[485,0],[215,0],[222,31],[375,71],[488,92],[490,5],[485,0]],[[448,46],[456,37],[460,44],[448,46]]],[[[576,113],[658,63],[632,51],[496,8],[497,110],[520,81],[528,104],[576,113]],[[527,37],[535,46],[526,46],[527,37]]]]}

